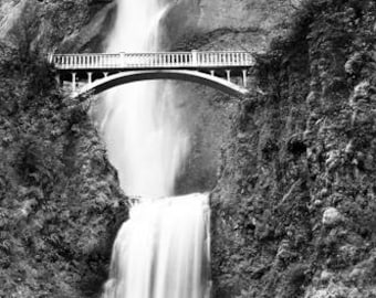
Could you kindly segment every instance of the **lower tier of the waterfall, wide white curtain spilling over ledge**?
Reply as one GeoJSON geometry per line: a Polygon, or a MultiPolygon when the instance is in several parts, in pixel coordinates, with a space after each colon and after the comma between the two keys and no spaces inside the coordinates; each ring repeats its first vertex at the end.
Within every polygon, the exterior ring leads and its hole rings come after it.
{"type": "Polygon", "coordinates": [[[189,194],[130,210],[113,248],[105,298],[209,298],[209,201],[189,194]]]}

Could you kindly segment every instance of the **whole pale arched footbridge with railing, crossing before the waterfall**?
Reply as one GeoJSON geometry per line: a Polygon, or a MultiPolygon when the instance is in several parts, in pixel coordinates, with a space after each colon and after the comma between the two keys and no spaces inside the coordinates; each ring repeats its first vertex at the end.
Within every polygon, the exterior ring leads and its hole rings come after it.
{"type": "Polygon", "coordinates": [[[58,70],[59,82],[70,82],[74,97],[146,79],[188,81],[243,96],[255,64],[250,53],[241,51],[50,54],[49,62],[58,70]]]}

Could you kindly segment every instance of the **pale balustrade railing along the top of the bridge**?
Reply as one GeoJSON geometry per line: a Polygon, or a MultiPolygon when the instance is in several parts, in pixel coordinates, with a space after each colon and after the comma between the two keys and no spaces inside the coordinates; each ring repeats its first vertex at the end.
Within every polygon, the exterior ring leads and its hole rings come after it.
{"type": "Polygon", "coordinates": [[[247,67],[255,63],[244,51],[52,54],[49,60],[59,70],[247,67]]]}

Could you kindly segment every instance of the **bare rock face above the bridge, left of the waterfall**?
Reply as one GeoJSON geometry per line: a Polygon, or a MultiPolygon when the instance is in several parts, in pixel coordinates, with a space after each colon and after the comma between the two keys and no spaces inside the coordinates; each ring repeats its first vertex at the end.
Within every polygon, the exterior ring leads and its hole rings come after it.
{"type": "Polygon", "coordinates": [[[4,0],[0,40],[41,53],[100,52],[113,23],[113,1],[4,0]]]}

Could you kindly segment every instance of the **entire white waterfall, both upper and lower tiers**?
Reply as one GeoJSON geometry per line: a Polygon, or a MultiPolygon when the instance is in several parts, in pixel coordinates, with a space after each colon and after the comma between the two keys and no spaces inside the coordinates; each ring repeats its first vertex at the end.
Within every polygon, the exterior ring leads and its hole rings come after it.
{"type": "MultiPolygon", "coordinates": [[[[117,0],[107,52],[159,50],[161,0],[117,0]]],[[[188,151],[179,109],[161,83],[129,84],[105,95],[102,129],[129,195],[142,196],[116,237],[104,298],[208,298],[207,194],[167,198],[188,151]]]]}

